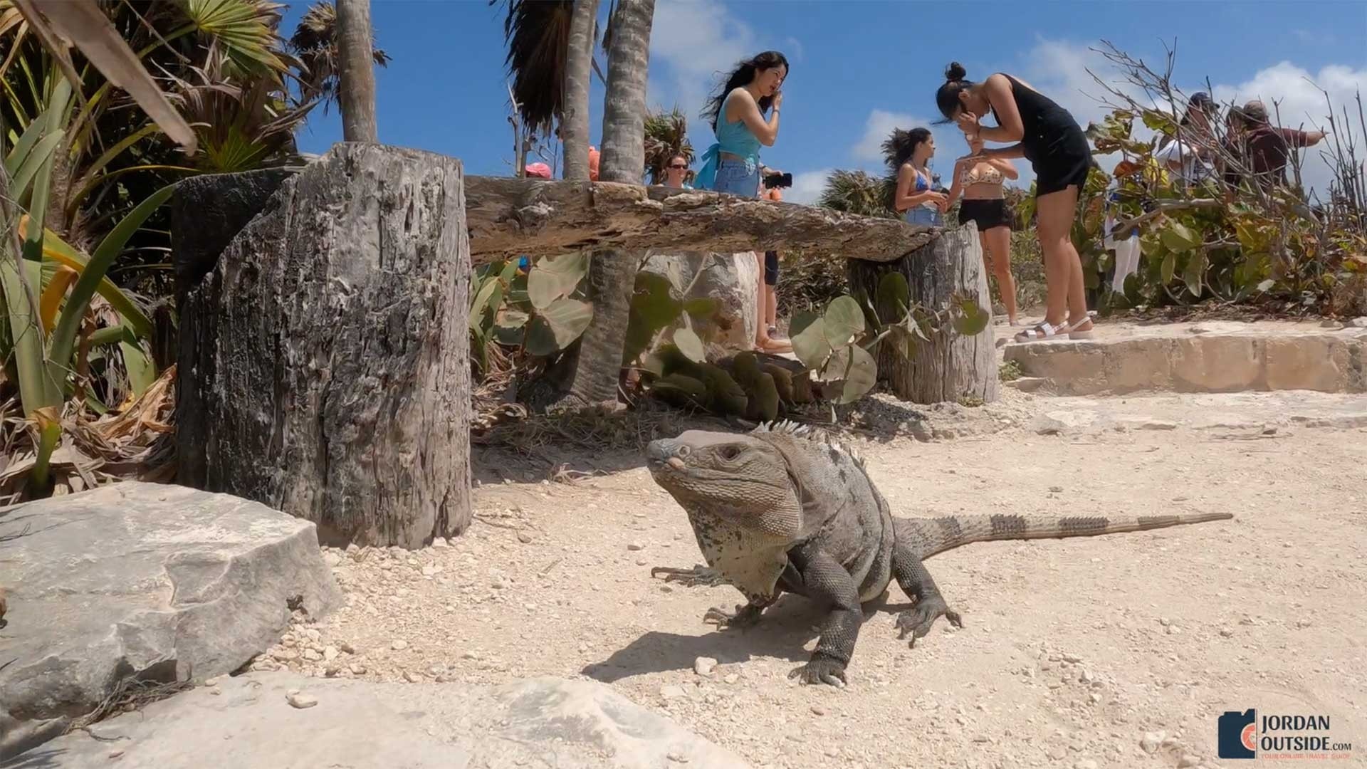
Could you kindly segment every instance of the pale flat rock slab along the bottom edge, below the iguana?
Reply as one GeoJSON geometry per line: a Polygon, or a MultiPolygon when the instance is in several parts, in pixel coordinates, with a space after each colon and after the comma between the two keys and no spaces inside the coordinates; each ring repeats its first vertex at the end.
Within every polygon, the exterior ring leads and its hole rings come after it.
{"type": "Polygon", "coordinates": [[[596,681],[493,688],[249,673],[49,742],[4,769],[741,769],[596,681]],[[293,690],[316,701],[295,707],[293,690]]]}

